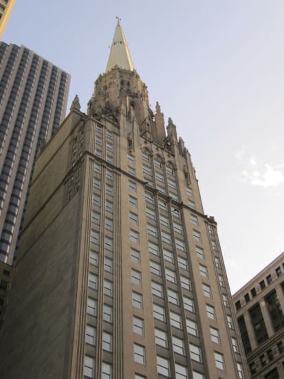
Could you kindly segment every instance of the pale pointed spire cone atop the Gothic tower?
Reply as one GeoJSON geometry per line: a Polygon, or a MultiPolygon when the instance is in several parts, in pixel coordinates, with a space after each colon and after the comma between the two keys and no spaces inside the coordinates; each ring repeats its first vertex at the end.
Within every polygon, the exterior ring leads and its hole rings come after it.
{"type": "Polygon", "coordinates": [[[115,66],[133,71],[134,66],[127,45],[127,40],[125,39],[122,27],[120,25],[120,19],[119,17],[116,18],[118,19],[118,23],[113,36],[106,72],[109,72],[115,66]]]}

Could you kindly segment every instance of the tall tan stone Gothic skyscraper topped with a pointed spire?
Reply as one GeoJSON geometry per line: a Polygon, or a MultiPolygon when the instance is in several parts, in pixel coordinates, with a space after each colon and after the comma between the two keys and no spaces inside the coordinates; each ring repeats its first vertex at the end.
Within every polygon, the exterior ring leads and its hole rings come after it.
{"type": "Polygon", "coordinates": [[[6,379],[249,378],[217,224],[119,21],[36,161],[0,345],[6,379]]]}

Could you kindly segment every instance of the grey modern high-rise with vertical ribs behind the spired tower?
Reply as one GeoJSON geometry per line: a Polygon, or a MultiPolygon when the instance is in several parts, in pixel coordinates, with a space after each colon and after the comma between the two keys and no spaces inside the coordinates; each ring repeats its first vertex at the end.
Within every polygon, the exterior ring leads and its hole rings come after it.
{"type": "Polygon", "coordinates": [[[12,264],[34,158],[65,117],[69,74],[0,42],[0,261],[12,264]]]}

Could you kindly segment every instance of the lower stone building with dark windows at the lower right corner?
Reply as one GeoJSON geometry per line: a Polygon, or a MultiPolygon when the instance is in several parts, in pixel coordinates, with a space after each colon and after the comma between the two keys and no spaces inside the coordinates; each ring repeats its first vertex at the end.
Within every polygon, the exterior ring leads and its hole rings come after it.
{"type": "Polygon", "coordinates": [[[233,296],[253,379],[284,378],[284,252],[233,296]]]}

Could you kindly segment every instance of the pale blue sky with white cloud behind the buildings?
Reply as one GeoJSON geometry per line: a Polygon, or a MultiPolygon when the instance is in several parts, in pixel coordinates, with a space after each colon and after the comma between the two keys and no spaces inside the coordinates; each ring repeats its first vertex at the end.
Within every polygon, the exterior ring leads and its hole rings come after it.
{"type": "Polygon", "coordinates": [[[284,250],[284,1],[17,0],[3,41],[72,74],[85,111],[116,16],[192,155],[235,292],[284,250]]]}

